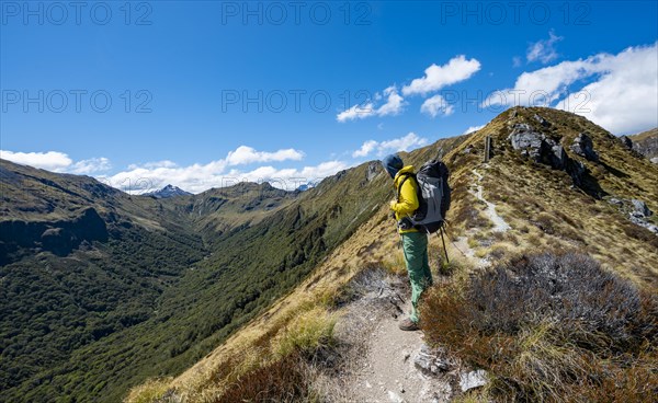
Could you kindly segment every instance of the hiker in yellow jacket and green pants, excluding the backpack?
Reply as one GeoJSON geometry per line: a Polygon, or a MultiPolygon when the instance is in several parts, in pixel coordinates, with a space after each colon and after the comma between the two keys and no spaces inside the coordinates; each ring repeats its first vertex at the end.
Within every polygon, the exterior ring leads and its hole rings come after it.
{"type": "Polygon", "coordinates": [[[422,292],[432,285],[432,273],[428,261],[428,235],[419,231],[410,219],[420,206],[418,182],[413,175],[413,166],[405,166],[402,160],[396,154],[384,158],[382,164],[393,179],[397,194],[397,199],[390,202],[390,209],[397,221],[411,283],[411,314],[400,322],[399,327],[402,331],[417,331],[419,329],[418,301],[422,292]]]}

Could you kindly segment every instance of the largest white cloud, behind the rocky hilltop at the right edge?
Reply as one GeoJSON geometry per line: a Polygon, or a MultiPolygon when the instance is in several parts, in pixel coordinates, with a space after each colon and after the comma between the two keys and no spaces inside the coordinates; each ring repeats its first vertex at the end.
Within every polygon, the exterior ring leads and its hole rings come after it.
{"type": "Polygon", "coordinates": [[[484,106],[555,106],[586,116],[614,134],[658,126],[658,43],[598,54],[523,72],[513,89],[491,94],[484,106]],[[581,88],[577,82],[589,80],[581,88]]]}

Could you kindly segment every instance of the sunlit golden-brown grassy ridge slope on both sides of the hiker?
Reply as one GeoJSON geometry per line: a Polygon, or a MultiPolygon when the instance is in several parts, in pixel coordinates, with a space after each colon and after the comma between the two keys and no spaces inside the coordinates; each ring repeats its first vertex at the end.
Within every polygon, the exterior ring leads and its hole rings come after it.
{"type": "MultiPolygon", "coordinates": [[[[454,189],[449,232],[455,244],[449,242],[449,251],[456,262],[453,266],[465,269],[462,275],[466,278],[468,270],[506,262],[518,253],[579,250],[591,253],[605,268],[655,292],[658,237],[633,223],[625,207],[610,202],[611,198],[636,198],[656,211],[658,172],[646,159],[625,149],[614,136],[566,112],[518,107],[502,113],[475,134],[440,141],[404,157],[418,164],[435,157],[442,147],[444,160],[452,170],[454,189]],[[547,123],[541,123],[535,115],[547,123]],[[563,145],[570,166],[582,170],[569,173],[522,157],[521,150],[512,149],[508,138],[517,124],[527,124],[536,133],[563,145]],[[598,161],[571,151],[570,146],[580,133],[587,133],[592,139],[598,161]],[[494,139],[494,157],[488,164],[481,162],[486,136],[494,139]],[[474,171],[483,179],[478,181],[474,171]],[[507,232],[491,230],[492,223],[485,214],[487,206],[475,195],[476,184],[484,187],[484,198],[494,202],[496,211],[510,224],[507,232]]],[[[390,189],[388,182],[382,179],[375,184],[390,189]]],[[[399,269],[401,253],[387,206],[379,204],[374,209],[372,218],[317,265],[292,293],[180,377],[152,380],[136,388],[128,402],[149,401],[141,399],[163,394],[189,402],[220,399],[231,383],[248,379],[242,375],[251,373],[254,368],[266,370],[276,362],[280,341],[299,332],[296,318],[317,310],[340,314],[343,286],[355,274],[372,266],[399,269]]],[[[655,218],[649,219],[655,222],[655,218]]],[[[432,237],[430,261],[434,268],[441,256],[439,243],[432,237]]]]}

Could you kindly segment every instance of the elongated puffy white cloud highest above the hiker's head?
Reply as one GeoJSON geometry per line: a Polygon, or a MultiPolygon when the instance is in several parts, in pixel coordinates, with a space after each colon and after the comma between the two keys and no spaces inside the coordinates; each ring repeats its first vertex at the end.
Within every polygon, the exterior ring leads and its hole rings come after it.
{"type": "Polygon", "coordinates": [[[424,71],[424,77],[415,79],[409,85],[402,87],[404,95],[424,95],[432,91],[441,90],[446,85],[469,79],[480,69],[477,59],[466,60],[464,55],[450,59],[443,66],[432,65],[424,71]]]}

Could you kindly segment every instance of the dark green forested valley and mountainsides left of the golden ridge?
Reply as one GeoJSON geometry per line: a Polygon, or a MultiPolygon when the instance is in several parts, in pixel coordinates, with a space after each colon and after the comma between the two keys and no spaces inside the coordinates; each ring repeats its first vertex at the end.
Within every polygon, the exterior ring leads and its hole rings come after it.
{"type": "Polygon", "coordinates": [[[115,402],[146,377],[181,371],[393,195],[378,163],[304,193],[238,184],[171,199],[5,161],[2,175],[0,395],[12,401],[115,402]],[[80,232],[89,210],[101,235],[80,232]],[[66,247],[48,247],[47,234],[66,247]]]}

